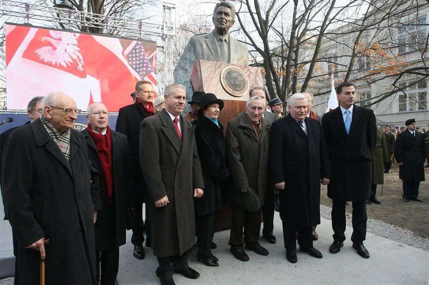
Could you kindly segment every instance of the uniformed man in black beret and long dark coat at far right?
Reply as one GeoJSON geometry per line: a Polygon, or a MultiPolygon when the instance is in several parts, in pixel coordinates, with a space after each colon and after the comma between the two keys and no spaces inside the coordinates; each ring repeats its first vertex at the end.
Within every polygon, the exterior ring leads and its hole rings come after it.
{"type": "Polygon", "coordinates": [[[407,130],[395,141],[395,159],[399,164],[399,178],[402,179],[402,200],[423,202],[419,196],[420,181],[424,181],[424,138],[416,132],[415,119],[405,122],[407,130]]]}

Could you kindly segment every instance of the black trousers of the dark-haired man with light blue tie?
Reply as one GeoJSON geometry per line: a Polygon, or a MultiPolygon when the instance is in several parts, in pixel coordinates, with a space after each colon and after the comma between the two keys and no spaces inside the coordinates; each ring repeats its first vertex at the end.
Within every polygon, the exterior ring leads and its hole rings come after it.
{"type": "MultiPolygon", "coordinates": [[[[351,241],[356,245],[363,244],[366,238],[366,201],[352,201],[353,234],[351,241]]],[[[333,240],[343,242],[346,240],[344,231],[346,230],[346,201],[332,200],[332,229],[333,240]]]]}

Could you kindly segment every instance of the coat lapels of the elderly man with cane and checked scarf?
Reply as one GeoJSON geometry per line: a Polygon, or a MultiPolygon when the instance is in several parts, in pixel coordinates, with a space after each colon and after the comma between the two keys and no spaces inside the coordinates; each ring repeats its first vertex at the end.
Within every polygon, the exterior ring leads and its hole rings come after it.
{"type": "MultiPolygon", "coordinates": [[[[46,132],[46,129],[42,125],[42,122],[40,119],[37,119],[33,123],[30,124],[31,130],[34,135],[34,140],[37,147],[44,146],[48,152],[52,154],[68,171],[70,176],[73,176],[73,172],[71,172],[71,166],[70,163],[67,161],[67,159],[64,157],[64,154],[61,152],[58,145],[54,142],[53,139],[49,136],[49,134],[46,132]]],[[[74,145],[71,144],[72,136],[70,136],[70,159],[71,159],[71,150],[73,149],[74,145]]]]}

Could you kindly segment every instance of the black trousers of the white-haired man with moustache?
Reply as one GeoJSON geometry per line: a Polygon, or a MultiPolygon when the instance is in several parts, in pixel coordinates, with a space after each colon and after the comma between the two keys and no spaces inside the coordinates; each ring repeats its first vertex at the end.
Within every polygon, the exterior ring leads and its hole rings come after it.
{"type": "Polygon", "coordinates": [[[281,220],[283,226],[284,248],[290,252],[296,250],[295,229],[298,230],[298,244],[303,248],[313,247],[313,228],[312,226],[298,226],[290,222],[290,219],[281,220]]]}

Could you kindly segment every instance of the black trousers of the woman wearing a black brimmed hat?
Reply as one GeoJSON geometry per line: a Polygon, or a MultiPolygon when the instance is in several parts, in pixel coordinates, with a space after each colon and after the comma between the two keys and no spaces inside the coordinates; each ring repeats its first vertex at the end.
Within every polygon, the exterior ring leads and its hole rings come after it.
{"type": "Polygon", "coordinates": [[[204,255],[210,255],[211,241],[214,234],[214,217],[216,213],[196,217],[198,249],[204,255]]]}

